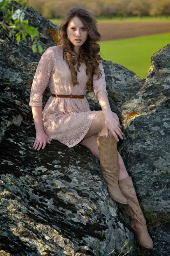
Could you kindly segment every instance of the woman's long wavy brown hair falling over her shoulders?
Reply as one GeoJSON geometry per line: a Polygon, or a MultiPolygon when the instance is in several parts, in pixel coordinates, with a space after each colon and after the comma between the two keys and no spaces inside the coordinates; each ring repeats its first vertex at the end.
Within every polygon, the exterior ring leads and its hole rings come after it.
{"type": "Polygon", "coordinates": [[[89,76],[89,79],[86,83],[86,91],[93,91],[93,76],[97,75],[96,79],[98,80],[99,74],[102,75],[101,70],[99,69],[99,61],[101,62],[102,58],[98,54],[100,52],[100,45],[96,43],[101,39],[101,35],[97,30],[97,21],[94,16],[87,11],[85,8],[74,7],[71,8],[65,15],[62,23],[58,26],[57,31],[57,45],[62,44],[63,48],[63,59],[66,57],[67,64],[70,67],[72,84],[73,86],[79,84],[77,81],[77,71],[74,66],[77,64],[77,70],[81,65],[81,62],[86,64],[86,74],[89,76]],[[67,37],[67,26],[73,17],[77,16],[83,26],[88,32],[86,41],[80,46],[79,54],[74,51],[74,45],[70,42],[67,37]]]}

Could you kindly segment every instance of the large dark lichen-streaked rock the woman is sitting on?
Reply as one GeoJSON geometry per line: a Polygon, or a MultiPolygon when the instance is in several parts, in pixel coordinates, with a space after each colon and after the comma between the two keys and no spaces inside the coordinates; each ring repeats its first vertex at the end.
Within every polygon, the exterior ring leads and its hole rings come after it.
{"type": "MultiPolygon", "coordinates": [[[[55,46],[49,31],[57,26],[31,7],[27,12],[29,25],[40,32],[38,43],[44,49],[55,46]]],[[[117,255],[128,241],[125,253],[135,248],[134,234],[119,217],[90,150],[69,149],[59,141],[33,148],[30,84],[41,55],[31,47],[29,37],[17,45],[2,29],[0,255],[117,255]]],[[[47,88],[43,105],[48,96],[47,88]]]]}

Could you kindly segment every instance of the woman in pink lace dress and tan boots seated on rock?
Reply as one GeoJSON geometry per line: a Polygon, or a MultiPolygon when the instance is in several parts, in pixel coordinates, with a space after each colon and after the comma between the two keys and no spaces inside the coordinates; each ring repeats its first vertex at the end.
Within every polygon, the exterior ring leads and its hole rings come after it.
{"type": "Polygon", "coordinates": [[[58,28],[58,45],[41,56],[31,87],[30,102],[36,128],[34,149],[45,148],[56,139],[69,148],[82,144],[100,160],[102,175],[116,201],[131,215],[131,227],[139,243],[153,247],[131,177],[117,151],[123,139],[118,116],[107,98],[101,39],[93,15],[84,8],[72,8],[58,28]],[[77,40],[80,39],[80,40],[77,40]],[[76,67],[75,67],[76,65],[76,67]],[[100,76],[101,75],[101,76],[100,76]],[[42,97],[49,82],[52,95],[42,112],[42,97]],[[102,111],[91,111],[86,93],[94,90],[102,111]]]}

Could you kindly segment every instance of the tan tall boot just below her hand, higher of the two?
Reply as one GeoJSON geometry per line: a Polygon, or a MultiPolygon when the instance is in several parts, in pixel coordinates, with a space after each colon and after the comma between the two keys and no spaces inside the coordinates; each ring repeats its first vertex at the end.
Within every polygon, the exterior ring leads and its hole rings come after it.
{"type": "Polygon", "coordinates": [[[127,204],[128,200],[122,195],[119,188],[119,160],[117,154],[117,140],[113,134],[97,137],[100,166],[103,179],[107,183],[112,198],[119,203],[127,204]]]}

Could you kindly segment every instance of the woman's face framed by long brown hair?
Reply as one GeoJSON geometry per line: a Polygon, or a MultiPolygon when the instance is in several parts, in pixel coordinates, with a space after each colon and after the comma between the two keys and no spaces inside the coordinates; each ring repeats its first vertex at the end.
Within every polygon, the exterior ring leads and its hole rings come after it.
{"type": "Polygon", "coordinates": [[[78,17],[70,19],[67,27],[67,36],[74,45],[74,49],[77,53],[80,46],[86,41],[87,35],[87,30],[84,28],[83,23],[78,17]],[[77,42],[75,39],[81,39],[81,41],[77,42]]]}

